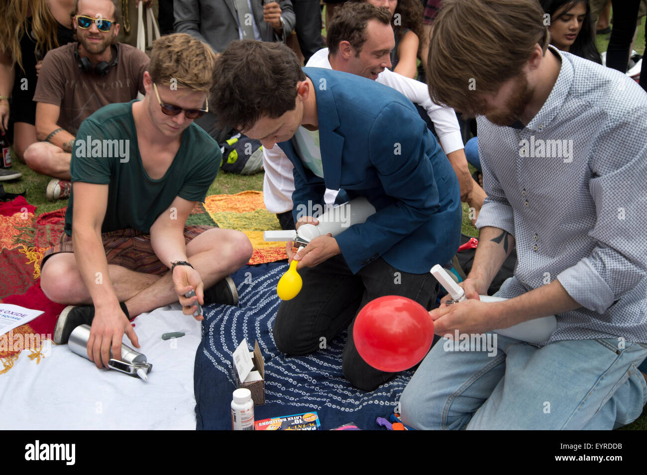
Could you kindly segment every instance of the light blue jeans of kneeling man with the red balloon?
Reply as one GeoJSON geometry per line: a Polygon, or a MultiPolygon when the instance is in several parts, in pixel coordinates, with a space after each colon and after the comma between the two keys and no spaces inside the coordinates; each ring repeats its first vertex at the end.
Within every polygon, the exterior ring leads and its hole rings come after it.
{"type": "Polygon", "coordinates": [[[450,352],[441,340],[400,399],[417,429],[612,429],[647,402],[647,345],[569,340],[536,348],[497,335],[498,352],[450,352]]]}

